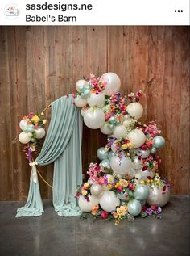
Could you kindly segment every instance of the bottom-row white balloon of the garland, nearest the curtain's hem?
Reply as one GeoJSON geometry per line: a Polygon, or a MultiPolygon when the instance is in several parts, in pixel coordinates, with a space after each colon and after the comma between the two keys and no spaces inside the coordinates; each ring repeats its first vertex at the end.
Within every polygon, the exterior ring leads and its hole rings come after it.
{"type": "Polygon", "coordinates": [[[84,196],[80,195],[78,199],[78,205],[81,208],[82,212],[91,212],[92,208],[99,204],[99,198],[95,195],[89,195],[89,202],[85,199],[84,196]]]}

